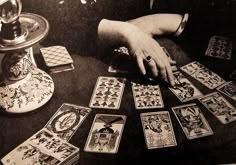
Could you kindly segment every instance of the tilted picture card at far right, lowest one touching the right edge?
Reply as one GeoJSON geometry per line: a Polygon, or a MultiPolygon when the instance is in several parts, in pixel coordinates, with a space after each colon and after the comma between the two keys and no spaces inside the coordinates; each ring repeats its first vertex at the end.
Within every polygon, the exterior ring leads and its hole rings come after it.
{"type": "Polygon", "coordinates": [[[218,92],[203,96],[199,101],[223,124],[236,119],[236,108],[218,92]]]}

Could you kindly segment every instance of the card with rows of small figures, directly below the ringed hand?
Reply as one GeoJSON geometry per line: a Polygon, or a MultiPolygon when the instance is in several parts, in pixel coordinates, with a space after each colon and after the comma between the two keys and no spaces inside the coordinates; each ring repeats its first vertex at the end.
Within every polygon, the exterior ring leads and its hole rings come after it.
{"type": "Polygon", "coordinates": [[[136,109],[163,108],[159,85],[132,83],[132,91],[136,109]]]}

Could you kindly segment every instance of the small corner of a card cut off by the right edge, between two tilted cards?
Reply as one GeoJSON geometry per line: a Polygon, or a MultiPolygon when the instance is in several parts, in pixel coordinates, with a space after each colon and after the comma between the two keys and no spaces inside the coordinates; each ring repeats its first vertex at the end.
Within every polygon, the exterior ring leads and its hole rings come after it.
{"type": "Polygon", "coordinates": [[[236,82],[229,81],[217,88],[218,91],[236,101],[236,82]]]}

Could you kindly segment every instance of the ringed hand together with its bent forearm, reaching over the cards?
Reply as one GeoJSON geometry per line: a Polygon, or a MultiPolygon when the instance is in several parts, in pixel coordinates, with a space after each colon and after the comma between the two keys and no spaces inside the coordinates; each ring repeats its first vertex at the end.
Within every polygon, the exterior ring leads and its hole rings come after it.
{"type": "Polygon", "coordinates": [[[150,70],[153,78],[160,76],[174,86],[171,64],[175,62],[169,61],[151,35],[131,23],[103,19],[98,27],[98,37],[105,45],[127,46],[142,75],[150,70]]]}

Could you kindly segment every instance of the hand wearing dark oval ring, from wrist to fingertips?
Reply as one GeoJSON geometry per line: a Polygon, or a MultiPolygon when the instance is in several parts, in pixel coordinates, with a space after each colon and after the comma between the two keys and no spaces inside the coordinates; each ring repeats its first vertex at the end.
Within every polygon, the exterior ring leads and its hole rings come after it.
{"type": "Polygon", "coordinates": [[[160,76],[174,86],[171,65],[176,62],[169,60],[159,43],[135,26],[132,26],[126,37],[130,53],[136,60],[141,74],[146,75],[150,70],[153,78],[160,76]]]}

